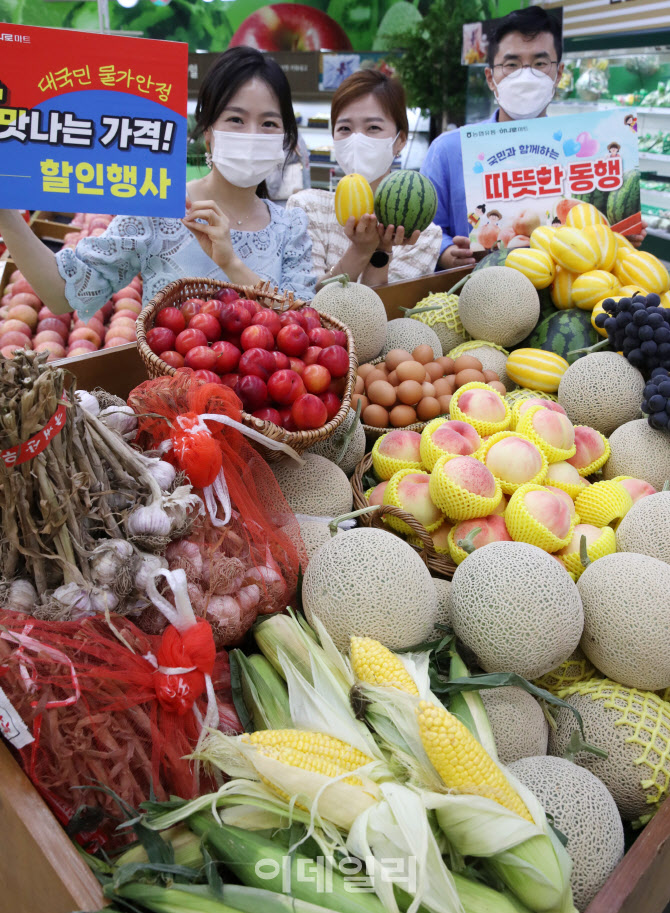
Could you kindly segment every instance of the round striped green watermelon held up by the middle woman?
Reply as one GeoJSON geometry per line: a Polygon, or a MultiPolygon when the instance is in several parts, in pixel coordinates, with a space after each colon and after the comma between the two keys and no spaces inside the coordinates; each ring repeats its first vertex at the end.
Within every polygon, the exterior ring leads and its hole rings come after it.
{"type": "Polygon", "coordinates": [[[375,215],[382,225],[401,225],[405,237],[428,228],[437,212],[433,182],[418,171],[392,171],[375,193],[375,215]]]}

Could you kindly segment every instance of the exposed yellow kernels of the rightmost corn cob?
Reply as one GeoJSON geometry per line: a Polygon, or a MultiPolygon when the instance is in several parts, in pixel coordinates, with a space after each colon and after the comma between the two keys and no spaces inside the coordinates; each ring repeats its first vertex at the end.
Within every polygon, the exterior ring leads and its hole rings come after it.
{"type": "Polygon", "coordinates": [[[445,786],[483,796],[532,821],[520,796],[479,742],[453,714],[421,701],[417,708],[421,741],[445,786]]]}

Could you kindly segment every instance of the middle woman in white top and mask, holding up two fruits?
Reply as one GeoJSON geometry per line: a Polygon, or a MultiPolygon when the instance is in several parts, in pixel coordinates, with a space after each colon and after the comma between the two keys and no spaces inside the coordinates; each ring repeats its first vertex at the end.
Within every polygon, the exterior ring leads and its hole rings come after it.
{"type": "MultiPolygon", "coordinates": [[[[345,174],[361,174],[373,191],[390,172],[407,142],[405,93],[400,83],[378,70],[354,73],[333,95],[330,109],[333,151],[345,174]]],[[[300,207],[309,218],[312,261],[319,282],[347,273],[365,285],[380,285],[432,273],[440,252],[441,231],[429,225],[405,238],[404,229],[380,225],[374,215],[351,218],[342,227],[334,195],[303,190],[286,208],[300,207]]]]}

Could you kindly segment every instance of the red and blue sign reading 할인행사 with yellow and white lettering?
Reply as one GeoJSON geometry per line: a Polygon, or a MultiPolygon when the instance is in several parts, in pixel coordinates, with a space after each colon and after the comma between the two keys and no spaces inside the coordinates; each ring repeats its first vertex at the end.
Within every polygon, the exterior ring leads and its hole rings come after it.
{"type": "Polygon", "coordinates": [[[181,217],[188,46],[0,27],[8,209],[181,217]]]}

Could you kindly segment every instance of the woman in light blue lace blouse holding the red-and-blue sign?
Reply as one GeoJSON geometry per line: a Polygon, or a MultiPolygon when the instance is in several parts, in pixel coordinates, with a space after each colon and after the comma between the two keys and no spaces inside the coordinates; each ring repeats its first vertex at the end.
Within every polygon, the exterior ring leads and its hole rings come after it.
{"type": "Polygon", "coordinates": [[[279,65],[252,48],[221,54],[203,81],[196,123],[212,167],[189,183],[184,219],[117,216],[100,237],[54,256],[18,213],[0,210],[0,235],[54,313],[76,310],[88,320],[138,273],[145,304],[185,276],[269,280],[299,298],[313,296],[304,213],[264,199],[264,178],[297,139],[279,65]]]}

